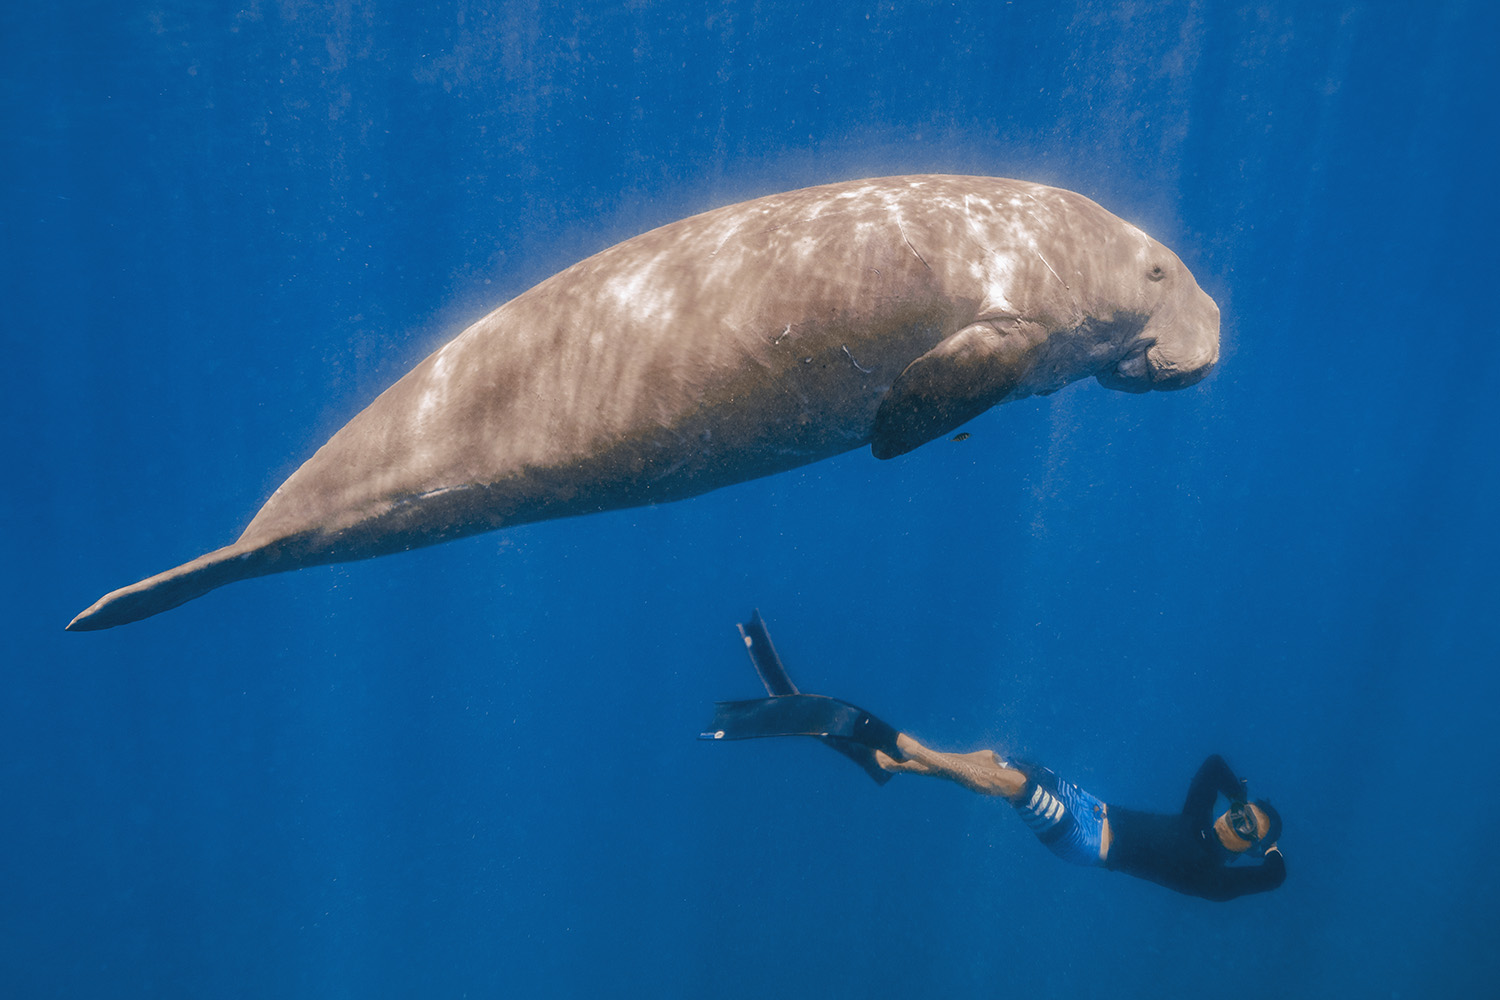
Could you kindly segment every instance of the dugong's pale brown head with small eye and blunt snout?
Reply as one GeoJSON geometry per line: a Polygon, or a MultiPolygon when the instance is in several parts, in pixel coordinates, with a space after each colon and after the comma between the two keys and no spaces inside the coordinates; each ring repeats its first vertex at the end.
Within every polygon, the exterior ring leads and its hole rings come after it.
{"type": "Polygon", "coordinates": [[[1101,385],[1126,393],[1184,388],[1218,361],[1218,306],[1178,255],[1144,232],[1134,259],[1116,271],[1116,301],[1144,316],[1125,354],[1096,372],[1101,385]]]}

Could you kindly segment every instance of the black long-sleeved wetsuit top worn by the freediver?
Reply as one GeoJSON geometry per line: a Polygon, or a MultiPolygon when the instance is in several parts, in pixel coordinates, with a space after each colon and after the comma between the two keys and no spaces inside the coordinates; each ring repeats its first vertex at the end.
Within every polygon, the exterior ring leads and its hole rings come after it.
{"type": "Polygon", "coordinates": [[[1220,793],[1228,799],[1244,795],[1239,778],[1214,754],[1192,777],[1188,801],[1176,816],[1112,804],[1110,853],[1104,867],[1204,900],[1233,900],[1275,889],[1287,877],[1281,852],[1270,852],[1254,867],[1228,867],[1236,855],[1214,831],[1214,804],[1220,793]]]}

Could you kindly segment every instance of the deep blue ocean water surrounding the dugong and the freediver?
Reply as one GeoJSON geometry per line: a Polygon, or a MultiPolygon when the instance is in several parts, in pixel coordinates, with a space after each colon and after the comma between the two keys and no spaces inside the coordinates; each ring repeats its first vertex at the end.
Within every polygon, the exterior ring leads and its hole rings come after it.
{"type": "Polygon", "coordinates": [[[1485,3],[0,9],[0,993],[1492,996],[1485,3]],[[240,583],[232,540],[495,304],[774,190],[1078,190],[1224,313],[1206,382],[240,583]],[[1210,904],[801,741],[807,690],[1172,810],[1224,753],[1288,879],[1210,904]],[[1238,987],[1236,987],[1238,984],[1238,987]]]}

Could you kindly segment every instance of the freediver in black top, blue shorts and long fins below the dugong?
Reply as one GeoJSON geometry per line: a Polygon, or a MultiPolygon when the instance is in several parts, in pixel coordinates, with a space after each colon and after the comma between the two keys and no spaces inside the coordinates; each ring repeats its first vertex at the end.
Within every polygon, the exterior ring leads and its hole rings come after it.
{"type": "Polygon", "coordinates": [[[1281,816],[1264,799],[1250,802],[1246,783],[1218,754],[1198,768],[1180,813],[1107,805],[1047,768],[1004,760],[993,750],[936,751],[848,702],[802,694],[782,666],[760,613],[740,631],[771,697],[720,702],[704,739],[816,736],[882,784],[892,774],[946,778],[1010,802],[1066,862],[1122,871],[1185,895],[1226,901],[1268,892],[1287,877],[1276,844],[1281,816]],[[1221,795],[1228,807],[1215,817],[1221,795]],[[1234,864],[1244,858],[1260,858],[1260,864],[1234,864]]]}

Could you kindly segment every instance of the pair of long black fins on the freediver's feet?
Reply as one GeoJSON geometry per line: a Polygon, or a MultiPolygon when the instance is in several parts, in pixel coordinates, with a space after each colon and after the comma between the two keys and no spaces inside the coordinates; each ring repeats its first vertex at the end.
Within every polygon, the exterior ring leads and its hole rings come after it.
{"type": "Polygon", "coordinates": [[[750,663],[771,697],[718,702],[712,721],[699,739],[812,736],[860,765],[876,784],[891,780],[891,772],[876,763],[874,751],[880,750],[896,760],[906,759],[896,745],[896,729],[856,705],[800,693],[782,658],[776,655],[759,610],[740,625],[740,634],[750,663]]]}

